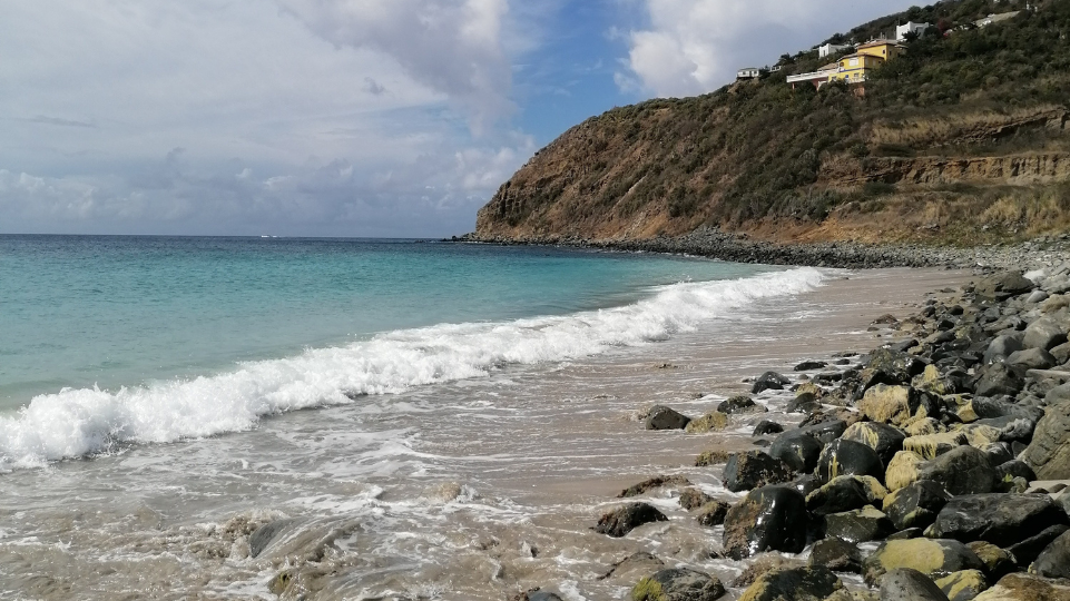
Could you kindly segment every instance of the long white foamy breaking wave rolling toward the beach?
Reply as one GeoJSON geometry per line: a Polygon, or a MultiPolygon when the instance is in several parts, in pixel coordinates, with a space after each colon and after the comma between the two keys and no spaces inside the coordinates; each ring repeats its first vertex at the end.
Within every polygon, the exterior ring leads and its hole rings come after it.
{"type": "Polygon", "coordinates": [[[117,444],[244,431],[265,415],[359,403],[362,394],[392,394],[483,377],[505,365],[566,361],[661,341],[760,298],[809,290],[822,278],[816,269],[799,268],[677,284],[610,309],[399,331],[192,381],[40,395],[17,416],[0,417],[0,467],[37,466],[107,452],[117,444]]]}

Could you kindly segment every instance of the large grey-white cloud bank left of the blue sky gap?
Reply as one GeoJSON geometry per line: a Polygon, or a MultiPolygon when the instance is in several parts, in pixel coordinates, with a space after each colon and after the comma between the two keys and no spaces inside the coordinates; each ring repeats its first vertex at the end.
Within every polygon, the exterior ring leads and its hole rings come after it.
{"type": "Polygon", "coordinates": [[[534,149],[501,120],[507,17],[505,0],[6,3],[0,231],[467,231],[534,149]]]}

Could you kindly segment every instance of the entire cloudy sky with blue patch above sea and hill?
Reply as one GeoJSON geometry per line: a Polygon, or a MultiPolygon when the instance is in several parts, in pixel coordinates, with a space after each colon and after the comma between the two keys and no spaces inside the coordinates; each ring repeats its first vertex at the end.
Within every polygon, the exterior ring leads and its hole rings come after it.
{"type": "Polygon", "coordinates": [[[0,0],[0,234],[443,237],[588,117],[899,0],[0,0]]]}

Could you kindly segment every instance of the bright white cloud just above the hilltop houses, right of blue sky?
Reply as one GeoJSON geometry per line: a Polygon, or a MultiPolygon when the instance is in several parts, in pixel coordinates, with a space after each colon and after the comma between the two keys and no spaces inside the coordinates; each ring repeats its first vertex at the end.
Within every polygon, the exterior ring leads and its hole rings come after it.
{"type": "Polygon", "coordinates": [[[811,48],[838,30],[907,8],[878,0],[641,0],[649,27],[628,36],[629,73],[657,96],[711,91],[742,67],[811,48]]]}

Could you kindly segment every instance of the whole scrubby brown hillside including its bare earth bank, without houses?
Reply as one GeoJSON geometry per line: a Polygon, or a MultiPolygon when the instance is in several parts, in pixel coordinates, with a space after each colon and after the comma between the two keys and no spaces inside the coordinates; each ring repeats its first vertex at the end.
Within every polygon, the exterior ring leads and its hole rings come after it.
{"type": "Polygon", "coordinates": [[[813,50],[760,80],[615,108],[537,152],[480,210],[475,235],[641,239],[713,226],[781,242],[968,245],[1066,230],[1070,2],[1032,6],[969,28],[1025,3],[945,1],[828,40],[939,23],[864,88],[793,90],[785,76],[838,58],[813,50]]]}

